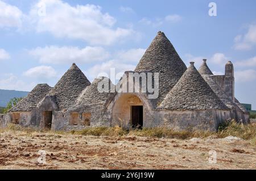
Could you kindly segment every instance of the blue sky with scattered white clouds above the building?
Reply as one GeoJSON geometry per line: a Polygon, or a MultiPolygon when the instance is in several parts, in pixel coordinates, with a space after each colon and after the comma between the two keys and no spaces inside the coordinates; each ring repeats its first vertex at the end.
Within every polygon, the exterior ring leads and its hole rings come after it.
{"type": "Polygon", "coordinates": [[[236,97],[256,110],[254,0],[0,0],[0,89],[54,86],[72,62],[90,81],[110,68],[133,70],[159,30],[186,65],[207,58],[223,74],[232,61],[236,97]]]}

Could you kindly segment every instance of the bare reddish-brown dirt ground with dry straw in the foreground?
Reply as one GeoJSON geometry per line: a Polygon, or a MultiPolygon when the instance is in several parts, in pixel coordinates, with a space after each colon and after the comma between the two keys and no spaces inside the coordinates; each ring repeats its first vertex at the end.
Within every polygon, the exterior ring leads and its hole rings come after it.
{"type": "Polygon", "coordinates": [[[0,169],[256,169],[249,141],[0,133],[0,169]],[[38,163],[39,150],[46,163],[38,163]],[[209,150],[217,163],[209,163],[209,150]]]}

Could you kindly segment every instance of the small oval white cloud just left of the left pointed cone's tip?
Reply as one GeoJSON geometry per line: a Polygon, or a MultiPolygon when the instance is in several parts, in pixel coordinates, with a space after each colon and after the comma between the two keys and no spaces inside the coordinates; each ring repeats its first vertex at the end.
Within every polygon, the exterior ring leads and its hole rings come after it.
{"type": "Polygon", "coordinates": [[[55,78],[57,73],[51,66],[36,66],[23,73],[26,77],[49,79],[55,78]]]}

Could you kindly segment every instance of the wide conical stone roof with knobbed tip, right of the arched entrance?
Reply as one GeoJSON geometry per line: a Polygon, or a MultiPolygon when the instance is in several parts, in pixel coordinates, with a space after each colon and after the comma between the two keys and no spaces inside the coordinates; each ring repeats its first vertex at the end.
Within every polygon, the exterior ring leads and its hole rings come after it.
{"type": "Polygon", "coordinates": [[[191,62],[189,68],[166,95],[159,108],[170,110],[228,110],[228,107],[221,102],[196,70],[194,62],[191,62]]]}

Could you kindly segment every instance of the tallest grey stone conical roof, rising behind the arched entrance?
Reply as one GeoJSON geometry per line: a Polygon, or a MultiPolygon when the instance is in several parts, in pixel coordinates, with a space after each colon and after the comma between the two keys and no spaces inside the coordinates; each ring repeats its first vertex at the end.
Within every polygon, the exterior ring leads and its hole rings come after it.
{"type": "Polygon", "coordinates": [[[163,32],[158,32],[134,71],[159,73],[159,98],[151,99],[154,106],[162,102],[187,67],[163,32]]]}

